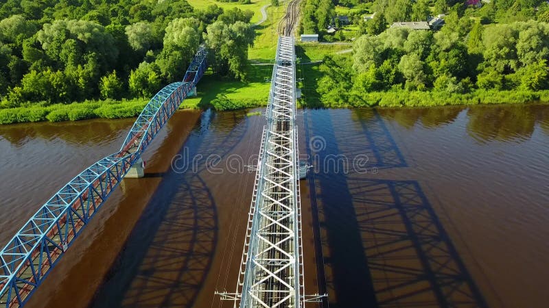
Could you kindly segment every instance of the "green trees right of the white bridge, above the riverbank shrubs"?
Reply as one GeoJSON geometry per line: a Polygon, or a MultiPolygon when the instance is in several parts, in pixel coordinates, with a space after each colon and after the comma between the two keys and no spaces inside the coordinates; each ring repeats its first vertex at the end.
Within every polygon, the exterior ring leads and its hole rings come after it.
{"type": "MultiPolygon", "coordinates": [[[[547,90],[549,23],[543,9],[547,3],[537,1],[541,9],[534,15],[518,10],[515,21],[493,23],[498,16],[507,16],[503,11],[508,7],[499,2],[492,1],[480,10],[465,9],[462,3],[447,8],[440,31],[387,29],[376,16],[378,22],[375,18],[368,21],[366,34],[355,40],[352,57],[325,58],[318,93],[323,101],[364,102],[370,92],[455,95],[478,90],[547,90]]],[[[522,3],[509,2],[515,3],[511,8],[522,3]]]]}

